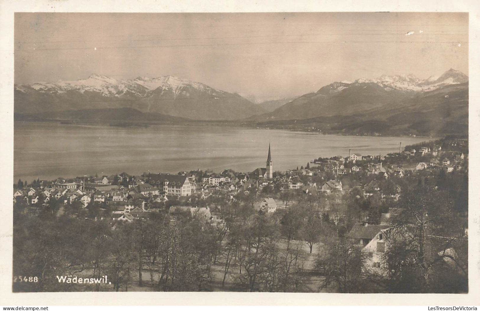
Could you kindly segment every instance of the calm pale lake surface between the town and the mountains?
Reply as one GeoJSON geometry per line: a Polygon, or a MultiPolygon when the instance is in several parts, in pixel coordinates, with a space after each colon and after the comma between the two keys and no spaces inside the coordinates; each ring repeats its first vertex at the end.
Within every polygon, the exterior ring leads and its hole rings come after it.
{"type": "Polygon", "coordinates": [[[151,125],[119,128],[15,122],[14,180],[59,176],[178,173],[194,169],[251,172],[265,167],[271,143],[275,171],[318,157],[396,152],[426,138],[320,135],[225,126],[151,125]]]}

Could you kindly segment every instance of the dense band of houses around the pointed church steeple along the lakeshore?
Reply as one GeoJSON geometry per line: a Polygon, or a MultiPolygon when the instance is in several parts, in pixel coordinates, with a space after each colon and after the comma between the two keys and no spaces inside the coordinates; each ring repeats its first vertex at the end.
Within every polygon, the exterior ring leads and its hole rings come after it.
{"type": "MultiPolygon", "coordinates": [[[[365,185],[359,185],[364,198],[378,194],[382,199],[397,200],[400,196],[400,187],[394,185],[385,191],[382,180],[390,176],[403,177],[405,174],[426,170],[432,166],[443,165],[448,172],[451,172],[453,169],[460,169],[464,160],[465,155],[461,152],[446,152],[440,146],[432,149],[421,147],[418,150],[410,149],[386,156],[353,153],[345,158],[342,156],[319,158],[307,163],[305,167],[274,173],[269,148],[266,168],[258,168],[247,174],[232,170],[225,170],[220,174],[209,170],[195,170],[178,174],[133,176],[121,173],[101,177],[76,177],[71,180],[58,178],[54,181],[41,181],[35,187],[15,189],[13,201],[22,200],[31,206],[46,205],[52,198],[63,205],[79,202],[77,204],[87,207],[89,204],[99,203],[102,208],[112,211],[118,219],[129,220],[127,218],[132,218],[132,213],[142,217],[142,213],[159,207],[162,203],[165,205],[173,198],[180,200],[185,206],[196,205],[192,198],[205,200],[218,195],[234,201],[240,192],[249,194],[253,188],[258,191],[258,195],[261,195],[264,187],[275,188],[276,193],[278,190],[293,190],[302,191],[307,195],[342,194],[344,192],[341,182],[343,176],[359,172],[383,177],[374,178],[365,185]],[[431,161],[428,164],[419,162],[416,167],[383,164],[388,162],[387,158],[400,155],[409,158],[417,153],[422,156],[431,155],[431,161]]],[[[267,192],[266,198],[261,197],[257,208],[274,212],[277,208],[284,206],[284,202],[277,202],[270,197],[271,194],[267,192]]]]}

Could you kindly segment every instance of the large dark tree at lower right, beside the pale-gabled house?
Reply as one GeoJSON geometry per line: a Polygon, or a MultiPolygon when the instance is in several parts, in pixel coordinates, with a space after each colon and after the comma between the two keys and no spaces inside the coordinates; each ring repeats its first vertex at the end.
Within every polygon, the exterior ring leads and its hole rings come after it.
{"type": "Polygon", "coordinates": [[[467,238],[451,196],[430,186],[402,195],[403,211],[386,236],[386,288],[391,292],[468,290],[467,238]],[[438,284],[439,280],[456,280],[438,284]]]}

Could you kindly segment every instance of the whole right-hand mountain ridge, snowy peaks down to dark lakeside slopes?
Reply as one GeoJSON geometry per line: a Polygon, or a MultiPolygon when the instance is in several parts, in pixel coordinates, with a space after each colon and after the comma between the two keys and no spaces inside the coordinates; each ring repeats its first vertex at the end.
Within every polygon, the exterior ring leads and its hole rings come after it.
{"type": "Polygon", "coordinates": [[[357,135],[468,134],[468,76],[414,75],[334,82],[273,112],[252,116],[256,126],[357,135]]]}

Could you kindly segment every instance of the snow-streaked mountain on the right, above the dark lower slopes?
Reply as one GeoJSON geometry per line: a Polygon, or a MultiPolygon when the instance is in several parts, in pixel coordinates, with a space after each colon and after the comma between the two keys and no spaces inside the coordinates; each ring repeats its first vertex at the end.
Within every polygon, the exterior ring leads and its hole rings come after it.
{"type": "MultiPolygon", "coordinates": [[[[352,83],[334,82],[316,92],[304,94],[273,112],[252,119],[301,120],[313,117],[369,115],[380,109],[399,109],[413,99],[430,97],[432,93],[445,96],[455,87],[468,89],[467,82],[468,76],[454,69],[446,71],[438,78],[430,77],[425,80],[414,75],[383,75],[376,79],[360,78],[352,83]]],[[[439,98],[444,99],[442,96],[439,98]]]]}

